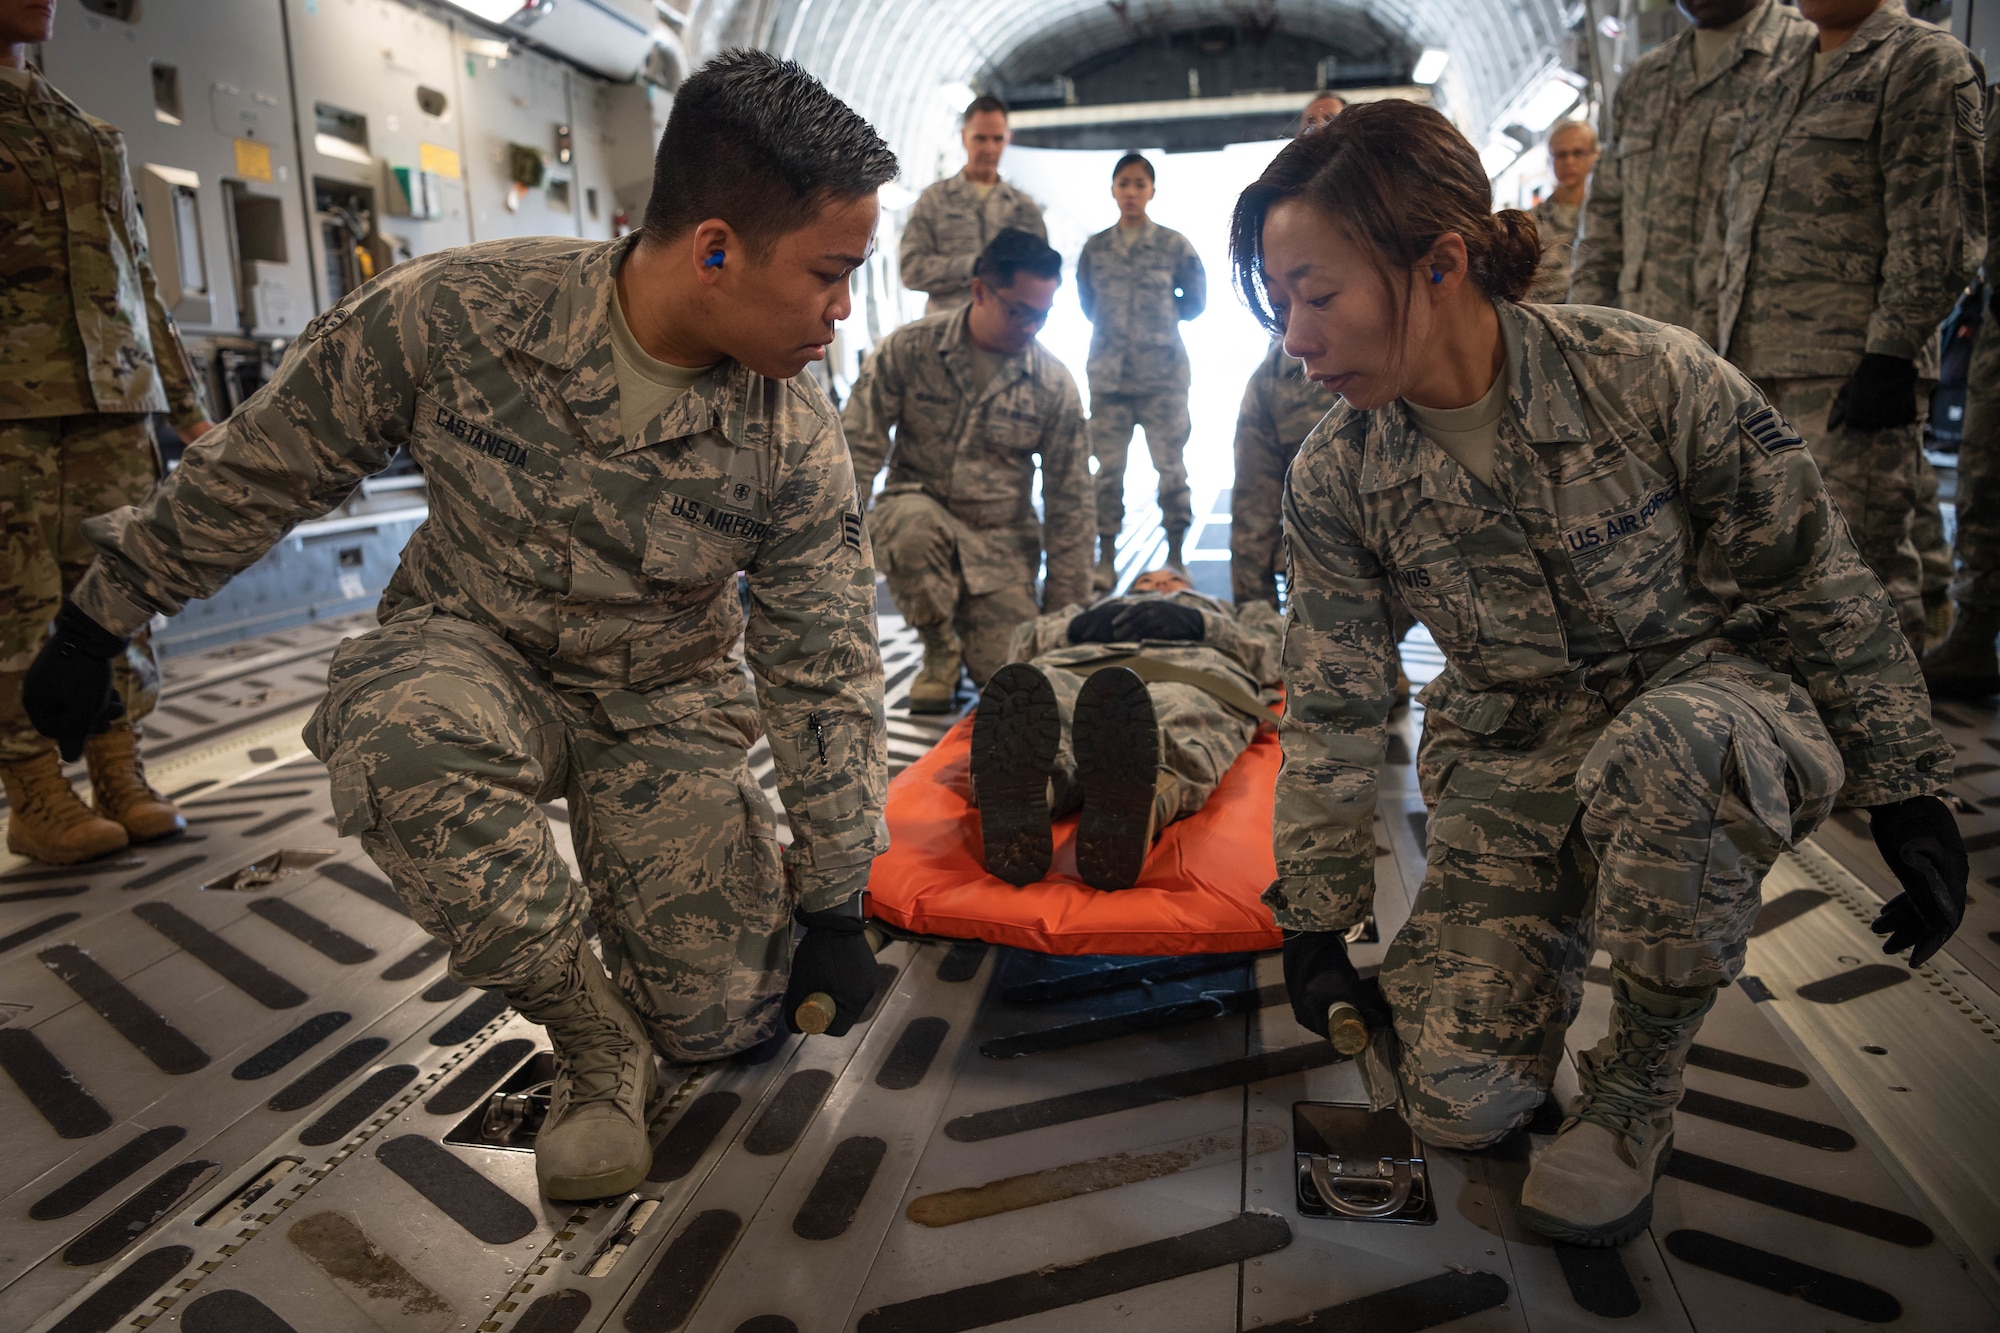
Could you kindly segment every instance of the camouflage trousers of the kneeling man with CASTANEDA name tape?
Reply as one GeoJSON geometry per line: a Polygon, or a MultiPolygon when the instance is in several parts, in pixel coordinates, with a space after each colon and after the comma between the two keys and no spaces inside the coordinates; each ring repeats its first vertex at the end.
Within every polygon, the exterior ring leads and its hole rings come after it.
{"type": "Polygon", "coordinates": [[[742,671],[690,681],[672,723],[618,731],[498,634],[406,612],[334,652],[306,725],[342,835],[450,949],[452,975],[526,985],[582,947],[670,1059],[780,1029],[792,897],[770,805],[744,761],[762,735],[742,671]],[[566,799],[582,885],[546,801],[566,799]]]}

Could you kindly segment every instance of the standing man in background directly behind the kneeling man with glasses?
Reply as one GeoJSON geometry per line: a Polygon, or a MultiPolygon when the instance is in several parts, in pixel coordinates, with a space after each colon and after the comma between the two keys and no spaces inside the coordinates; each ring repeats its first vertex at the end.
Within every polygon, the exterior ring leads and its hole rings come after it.
{"type": "Polygon", "coordinates": [[[930,296],[926,316],[962,310],[972,300],[972,264],[1000,232],[1048,238],[1042,206],[1000,180],[1000,154],[1014,138],[1006,102],[972,98],[958,138],[966,146],[964,170],[928,186],[902,226],[902,284],[930,296]]]}

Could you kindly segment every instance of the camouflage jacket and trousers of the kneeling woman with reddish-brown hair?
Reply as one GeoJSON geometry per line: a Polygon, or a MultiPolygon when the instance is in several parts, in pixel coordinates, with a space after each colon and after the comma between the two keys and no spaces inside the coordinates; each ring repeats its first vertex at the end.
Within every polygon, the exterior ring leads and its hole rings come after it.
{"type": "Polygon", "coordinates": [[[1686,330],[1500,306],[1522,334],[1494,484],[1392,404],[1336,408],[1286,490],[1288,929],[1374,899],[1388,590],[1446,654],[1424,691],[1424,887],[1364,1071],[1474,1147],[1542,1101],[1592,947],[1654,987],[1738,973],[1758,885],[1838,797],[1942,791],[1952,751],[1812,454],[1686,330]],[[1716,540],[1746,604],[1696,576],[1716,540]]]}

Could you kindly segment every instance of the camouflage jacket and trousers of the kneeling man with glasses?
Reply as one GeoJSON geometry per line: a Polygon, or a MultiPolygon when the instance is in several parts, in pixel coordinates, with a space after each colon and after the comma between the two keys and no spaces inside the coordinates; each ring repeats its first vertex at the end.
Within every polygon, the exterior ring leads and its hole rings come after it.
{"type": "Polygon", "coordinates": [[[896,608],[918,628],[952,622],[976,685],[1040,608],[1044,546],[1044,604],[1090,600],[1084,412],[1040,342],[974,386],[964,312],[904,324],[868,358],[842,422],[864,498],[888,462],[868,526],[896,608]],[[1046,524],[1034,514],[1036,454],[1046,524]]]}

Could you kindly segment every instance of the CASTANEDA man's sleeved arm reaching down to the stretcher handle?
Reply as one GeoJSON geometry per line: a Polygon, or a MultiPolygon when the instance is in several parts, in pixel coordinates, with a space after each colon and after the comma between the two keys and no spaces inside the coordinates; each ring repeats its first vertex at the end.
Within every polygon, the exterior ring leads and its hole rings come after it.
{"type": "Polygon", "coordinates": [[[772,532],[748,570],[744,656],[792,823],[784,863],[800,911],[814,913],[866,887],[868,863],[888,849],[888,737],[854,470],[818,390],[788,392],[802,428],[822,416],[772,496],[772,532]]]}

